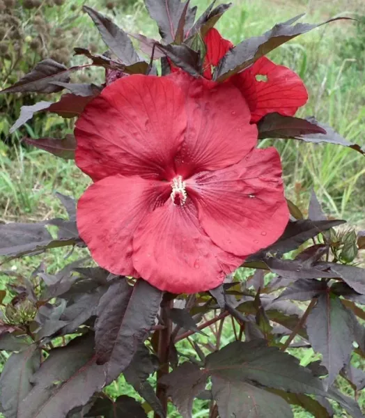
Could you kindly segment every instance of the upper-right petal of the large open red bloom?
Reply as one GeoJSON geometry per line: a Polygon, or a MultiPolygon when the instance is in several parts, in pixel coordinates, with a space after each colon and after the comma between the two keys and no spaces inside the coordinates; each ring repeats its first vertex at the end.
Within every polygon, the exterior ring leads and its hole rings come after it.
{"type": "Polygon", "coordinates": [[[169,76],[186,94],[187,131],[176,155],[176,172],[187,178],[236,164],[257,143],[256,125],[233,84],[194,79],[184,72],[169,76]]]}

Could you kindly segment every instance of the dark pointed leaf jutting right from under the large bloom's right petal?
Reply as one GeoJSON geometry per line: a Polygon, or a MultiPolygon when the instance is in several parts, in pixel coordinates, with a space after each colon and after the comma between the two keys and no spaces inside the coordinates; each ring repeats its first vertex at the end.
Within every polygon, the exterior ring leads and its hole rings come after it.
{"type": "Polygon", "coordinates": [[[310,219],[303,219],[296,222],[289,222],[286,229],[273,245],[247,258],[247,261],[261,259],[266,252],[279,251],[285,254],[288,251],[297,249],[307,240],[315,237],[327,229],[345,224],[345,221],[311,221],[310,219]]]}

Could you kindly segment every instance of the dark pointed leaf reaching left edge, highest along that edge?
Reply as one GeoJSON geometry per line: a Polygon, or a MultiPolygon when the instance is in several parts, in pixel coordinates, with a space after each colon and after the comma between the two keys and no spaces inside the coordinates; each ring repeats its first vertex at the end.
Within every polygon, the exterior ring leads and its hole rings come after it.
{"type": "Polygon", "coordinates": [[[54,93],[61,91],[61,86],[56,86],[51,82],[67,83],[70,79],[69,73],[76,69],[77,67],[68,69],[53,59],[45,59],[40,61],[29,74],[24,75],[19,82],[5,88],[0,93],[54,93]]]}

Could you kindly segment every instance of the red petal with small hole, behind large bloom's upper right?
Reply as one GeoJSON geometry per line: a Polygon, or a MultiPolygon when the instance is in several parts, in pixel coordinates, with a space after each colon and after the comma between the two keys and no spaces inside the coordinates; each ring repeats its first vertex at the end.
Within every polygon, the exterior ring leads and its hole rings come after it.
{"type": "Polygon", "coordinates": [[[299,75],[290,68],[274,64],[265,56],[233,77],[233,80],[249,103],[251,122],[254,123],[272,112],[293,116],[308,100],[308,93],[299,75]]]}

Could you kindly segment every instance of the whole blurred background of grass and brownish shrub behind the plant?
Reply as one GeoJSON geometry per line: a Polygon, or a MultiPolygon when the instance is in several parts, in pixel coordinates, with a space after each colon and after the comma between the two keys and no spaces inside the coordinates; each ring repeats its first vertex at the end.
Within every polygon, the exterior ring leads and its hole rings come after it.
{"type": "MultiPolygon", "coordinates": [[[[142,0],[0,0],[0,88],[15,83],[22,75],[46,57],[75,65],[82,61],[72,56],[73,47],[87,47],[91,52],[104,52],[104,45],[91,20],[81,11],[86,3],[106,13],[128,33],[143,33],[158,38],[142,0]]],[[[316,116],[332,125],[349,141],[364,145],[365,132],[365,16],[362,0],[233,0],[233,7],[222,17],[217,29],[234,43],[260,35],[277,22],[299,13],[307,13],[305,22],[320,22],[335,15],[355,17],[356,22],[339,21],[295,38],[270,53],[270,58],[295,70],[309,90],[310,99],[298,116],[316,116]]],[[[194,0],[201,12],[207,0],[194,0]]],[[[74,82],[103,81],[103,73],[79,72],[74,82]]],[[[38,115],[24,127],[9,134],[9,128],[20,114],[23,104],[49,100],[47,95],[0,95],[0,222],[46,219],[62,214],[58,191],[78,198],[89,180],[73,161],[58,159],[48,153],[20,144],[24,136],[32,138],[63,137],[72,132],[72,120],[59,116],[38,115]]],[[[54,100],[54,96],[51,100],[54,100]]],[[[269,141],[262,141],[267,146],[269,141]]],[[[327,214],[347,219],[364,229],[365,166],[364,157],[349,148],[331,145],[276,141],[284,164],[286,193],[306,212],[312,187],[323,202],[327,214]]],[[[67,250],[55,249],[46,256],[12,261],[6,269],[29,275],[40,261],[49,272],[59,270],[82,250],[65,261],[67,250]]],[[[5,268],[5,267],[4,267],[5,268]]],[[[0,274],[0,290],[8,277],[0,274]]],[[[204,340],[205,337],[199,336],[204,340]]],[[[208,339],[209,340],[209,339],[208,339]]],[[[206,340],[205,343],[209,341],[206,340]]],[[[231,325],[224,325],[222,345],[233,341],[231,325]]],[[[203,341],[204,342],[204,341],[203,341]]],[[[179,350],[192,355],[187,341],[179,350]]],[[[303,365],[319,357],[313,350],[293,350],[303,365]]],[[[2,357],[1,357],[2,356],[2,357]]],[[[1,358],[8,357],[6,353],[1,358]]],[[[358,359],[354,360],[359,363],[358,359]]],[[[1,364],[0,364],[1,366],[1,364]]],[[[359,364],[355,364],[359,366],[359,364]]],[[[352,396],[352,389],[341,380],[337,383],[352,396]]],[[[112,396],[133,390],[123,378],[107,388],[112,396]]],[[[365,406],[365,396],[360,396],[365,406]]],[[[208,415],[206,402],[198,401],[194,418],[208,415]]],[[[297,408],[295,417],[308,417],[297,408]]],[[[337,416],[345,416],[339,412],[337,416]]],[[[179,417],[171,412],[171,418],[179,417]]]]}

